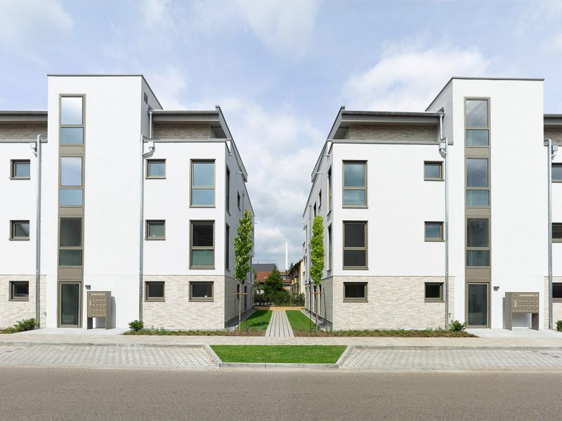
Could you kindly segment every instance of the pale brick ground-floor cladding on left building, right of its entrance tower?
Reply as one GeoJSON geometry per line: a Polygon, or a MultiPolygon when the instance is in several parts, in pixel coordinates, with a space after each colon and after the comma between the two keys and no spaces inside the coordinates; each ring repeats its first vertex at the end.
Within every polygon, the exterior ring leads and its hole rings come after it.
{"type": "Polygon", "coordinates": [[[166,329],[223,329],[225,321],[225,276],[143,276],[143,297],[147,281],[164,281],[164,302],[143,301],[145,327],[166,329]],[[214,301],[190,301],[190,281],[214,281],[214,301]]]}

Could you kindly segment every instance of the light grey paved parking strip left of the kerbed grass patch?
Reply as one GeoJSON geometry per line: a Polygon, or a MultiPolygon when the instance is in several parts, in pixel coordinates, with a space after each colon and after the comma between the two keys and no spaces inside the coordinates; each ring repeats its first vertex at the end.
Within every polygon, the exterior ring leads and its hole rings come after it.
{"type": "Polygon", "coordinates": [[[204,348],[0,347],[0,366],[97,368],[214,368],[204,348]]]}

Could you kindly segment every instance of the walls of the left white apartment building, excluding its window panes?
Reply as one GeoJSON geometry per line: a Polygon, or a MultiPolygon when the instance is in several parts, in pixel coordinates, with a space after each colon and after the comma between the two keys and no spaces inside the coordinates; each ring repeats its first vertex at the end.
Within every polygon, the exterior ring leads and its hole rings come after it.
{"type": "MultiPolygon", "coordinates": [[[[146,325],[155,327],[224,328],[235,316],[235,312],[228,310],[233,307],[229,301],[235,300],[230,294],[230,283],[234,282],[233,239],[243,210],[252,215],[253,211],[245,187],[247,172],[219,107],[195,112],[162,110],[142,75],[51,75],[46,111],[0,114],[0,156],[6,173],[11,171],[12,160],[30,163],[29,178],[6,177],[0,181],[1,191],[11,198],[8,206],[0,210],[6,230],[0,240],[4,256],[0,261],[0,279],[7,285],[2,290],[8,290],[8,297],[0,302],[1,326],[37,314],[31,301],[34,290],[29,292],[30,305],[22,306],[25,290],[20,291],[24,293],[20,300],[10,300],[9,285],[25,276],[32,276],[29,288],[35,284],[37,158],[30,142],[39,133],[48,138],[41,144],[40,274],[45,279],[40,291],[44,297],[39,311],[41,327],[64,326],[60,316],[62,281],[79,286],[79,322],[74,327],[87,326],[88,291],[110,291],[112,327],[125,328],[130,321],[142,318],[146,325]],[[60,142],[61,97],[67,95],[83,98],[81,145],[60,142]],[[145,155],[142,158],[141,135],[145,155]],[[82,157],[82,206],[68,208],[59,203],[63,156],[82,157]],[[165,177],[149,178],[147,160],[165,161],[165,177]],[[214,165],[214,203],[204,208],[192,206],[190,201],[193,160],[214,165]],[[244,198],[240,209],[237,193],[244,198]],[[82,258],[81,265],[61,269],[59,220],[67,217],[82,219],[82,258]],[[151,220],[164,221],[163,239],[148,236],[146,221],[151,220]],[[29,221],[29,239],[11,239],[11,221],[29,221]],[[190,266],[192,221],[204,221],[214,227],[209,245],[213,250],[212,267],[190,266]],[[146,283],[151,281],[164,282],[162,300],[147,300],[146,283]],[[191,282],[211,282],[211,299],[191,300],[191,282]],[[147,310],[145,314],[143,309],[147,310]]],[[[251,282],[251,276],[248,281],[251,282]]],[[[247,300],[249,308],[251,294],[247,300]]]]}

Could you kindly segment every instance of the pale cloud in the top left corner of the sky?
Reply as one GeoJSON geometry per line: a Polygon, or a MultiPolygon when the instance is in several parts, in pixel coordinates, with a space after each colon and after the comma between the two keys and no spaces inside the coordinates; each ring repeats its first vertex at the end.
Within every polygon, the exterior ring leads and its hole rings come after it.
{"type": "Polygon", "coordinates": [[[0,13],[0,44],[14,50],[46,44],[74,27],[72,16],[60,1],[3,0],[0,13]]]}

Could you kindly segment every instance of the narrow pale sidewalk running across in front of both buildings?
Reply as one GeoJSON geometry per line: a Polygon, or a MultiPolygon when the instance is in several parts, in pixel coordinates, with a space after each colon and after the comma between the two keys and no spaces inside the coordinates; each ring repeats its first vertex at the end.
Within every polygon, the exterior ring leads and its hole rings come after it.
{"type": "MultiPolygon", "coordinates": [[[[388,349],[560,348],[562,333],[542,331],[507,338],[273,338],[265,336],[120,335],[119,330],[41,329],[0,335],[2,345],[82,345],[117,347],[190,347],[192,345],[353,345],[388,349]]],[[[527,332],[525,332],[527,334],[527,332]]]]}

